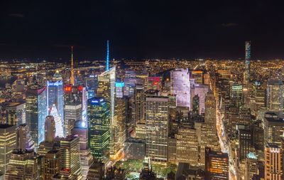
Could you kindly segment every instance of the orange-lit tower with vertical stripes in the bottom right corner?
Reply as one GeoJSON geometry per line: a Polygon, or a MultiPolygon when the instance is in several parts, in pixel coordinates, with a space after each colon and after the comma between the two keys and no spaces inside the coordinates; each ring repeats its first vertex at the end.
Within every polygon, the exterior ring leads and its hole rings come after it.
{"type": "Polygon", "coordinates": [[[264,177],[267,180],[283,179],[283,149],[268,144],[265,148],[264,177]]]}

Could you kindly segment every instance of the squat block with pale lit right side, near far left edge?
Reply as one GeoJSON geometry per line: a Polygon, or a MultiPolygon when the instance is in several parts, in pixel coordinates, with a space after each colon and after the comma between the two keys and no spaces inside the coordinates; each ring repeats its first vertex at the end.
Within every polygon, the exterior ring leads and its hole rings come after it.
{"type": "Polygon", "coordinates": [[[26,123],[26,103],[9,102],[6,105],[6,122],[16,127],[26,123]]]}

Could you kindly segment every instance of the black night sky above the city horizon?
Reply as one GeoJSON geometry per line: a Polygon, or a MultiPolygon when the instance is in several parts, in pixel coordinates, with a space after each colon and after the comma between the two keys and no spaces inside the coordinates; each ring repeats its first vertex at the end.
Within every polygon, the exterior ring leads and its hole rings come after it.
{"type": "Polygon", "coordinates": [[[273,1],[1,1],[0,59],[284,58],[273,1]]]}

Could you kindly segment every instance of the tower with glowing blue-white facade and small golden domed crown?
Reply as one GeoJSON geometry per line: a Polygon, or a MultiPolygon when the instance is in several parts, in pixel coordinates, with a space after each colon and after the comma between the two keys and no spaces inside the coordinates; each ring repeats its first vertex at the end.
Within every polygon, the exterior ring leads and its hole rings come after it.
{"type": "Polygon", "coordinates": [[[63,136],[63,122],[64,122],[63,121],[63,118],[64,118],[63,82],[62,82],[62,77],[58,70],[56,70],[55,74],[53,75],[53,79],[48,80],[48,115],[51,115],[51,112],[53,113],[57,112],[58,114],[56,115],[58,116],[58,122],[56,119],[57,117],[53,115],[53,117],[55,118],[55,124],[58,125],[56,127],[56,135],[62,137],[63,136]]]}

